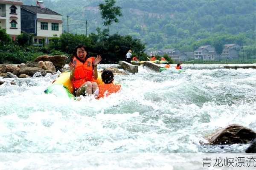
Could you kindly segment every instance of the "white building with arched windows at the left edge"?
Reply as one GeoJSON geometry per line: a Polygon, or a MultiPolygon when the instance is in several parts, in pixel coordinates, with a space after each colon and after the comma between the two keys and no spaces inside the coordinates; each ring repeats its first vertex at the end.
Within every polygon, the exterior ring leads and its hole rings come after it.
{"type": "Polygon", "coordinates": [[[15,40],[20,35],[20,0],[0,0],[0,27],[15,40]]]}

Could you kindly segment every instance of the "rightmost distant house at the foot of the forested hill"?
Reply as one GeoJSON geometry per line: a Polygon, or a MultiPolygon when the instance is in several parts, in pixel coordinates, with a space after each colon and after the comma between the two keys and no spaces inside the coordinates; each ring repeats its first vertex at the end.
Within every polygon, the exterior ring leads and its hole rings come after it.
{"type": "Polygon", "coordinates": [[[240,49],[241,47],[238,44],[225,44],[221,54],[221,58],[238,59],[238,53],[240,49]]]}

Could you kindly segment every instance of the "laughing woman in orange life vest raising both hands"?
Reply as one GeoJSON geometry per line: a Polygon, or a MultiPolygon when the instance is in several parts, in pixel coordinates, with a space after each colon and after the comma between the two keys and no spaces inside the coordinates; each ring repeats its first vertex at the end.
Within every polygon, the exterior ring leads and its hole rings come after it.
{"type": "Polygon", "coordinates": [[[68,65],[70,67],[70,81],[74,86],[74,95],[91,95],[98,88],[93,79],[98,78],[97,65],[101,61],[101,56],[97,55],[89,57],[87,48],[84,45],[78,45],[73,54],[73,62],[68,65]]]}

